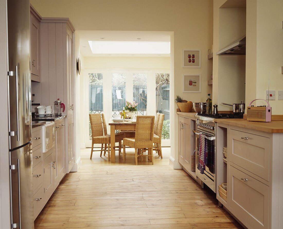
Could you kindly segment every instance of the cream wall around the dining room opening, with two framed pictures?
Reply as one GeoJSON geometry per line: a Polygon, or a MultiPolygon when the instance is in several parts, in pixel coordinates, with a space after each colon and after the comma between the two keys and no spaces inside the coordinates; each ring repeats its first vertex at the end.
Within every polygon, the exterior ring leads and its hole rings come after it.
{"type": "MultiPolygon", "coordinates": [[[[212,63],[207,60],[213,38],[211,0],[82,0],[79,3],[75,0],[31,0],[31,4],[43,17],[69,17],[76,30],[172,31],[171,102],[176,94],[199,102],[205,101],[207,93],[211,93],[211,86],[207,85],[212,73],[212,63]],[[201,68],[182,68],[182,50],[186,48],[201,49],[201,68]],[[201,93],[182,93],[183,74],[201,74],[201,93]]],[[[174,105],[171,110],[176,108],[174,105]]],[[[170,121],[173,130],[170,160],[177,167],[177,115],[172,115],[170,121]]]]}

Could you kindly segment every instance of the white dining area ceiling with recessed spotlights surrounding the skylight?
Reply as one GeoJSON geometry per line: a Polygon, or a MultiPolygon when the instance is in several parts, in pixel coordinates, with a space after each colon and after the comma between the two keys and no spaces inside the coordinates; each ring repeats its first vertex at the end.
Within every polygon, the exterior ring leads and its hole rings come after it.
{"type": "Polygon", "coordinates": [[[152,41],[170,42],[171,32],[167,31],[86,31],[76,30],[80,39],[80,52],[83,56],[130,56],[130,57],[169,57],[170,54],[93,54],[89,41],[152,41]],[[104,39],[102,39],[104,38],[104,39]],[[140,39],[137,39],[140,38],[140,39]]]}

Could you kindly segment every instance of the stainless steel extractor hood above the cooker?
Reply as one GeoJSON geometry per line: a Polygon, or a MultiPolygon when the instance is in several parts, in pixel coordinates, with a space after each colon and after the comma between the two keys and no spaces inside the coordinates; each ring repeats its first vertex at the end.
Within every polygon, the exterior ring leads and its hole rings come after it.
{"type": "Polygon", "coordinates": [[[246,35],[222,48],[216,55],[246,55],[246,35]]]}

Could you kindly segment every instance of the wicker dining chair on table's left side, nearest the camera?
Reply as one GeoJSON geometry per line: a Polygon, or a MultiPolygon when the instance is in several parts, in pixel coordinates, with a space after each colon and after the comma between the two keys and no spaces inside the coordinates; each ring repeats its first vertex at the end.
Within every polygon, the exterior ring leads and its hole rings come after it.
{"type": "MultiPolygon", "coordinates": [[[[90,159],[92,159],[92,153],[95,151],[100,151],[100,157],[102,156],[102,151],[104,151],[104,156],[108,152],[108,161],[110,161],[110,135],[107,134],[106,123],[104,119],[104,114],[89,114],[89,120],[91,125],[91,154],[90,159]],[[100,150],[93,150],[93,144],[101,144],[100,150]],[[103,145],[105,145],[103,147],[103,145]]],[[[124,135],[115,134],[115,142],[119,142],[119,156],[121,153],[121,141],[124,135]]]]}

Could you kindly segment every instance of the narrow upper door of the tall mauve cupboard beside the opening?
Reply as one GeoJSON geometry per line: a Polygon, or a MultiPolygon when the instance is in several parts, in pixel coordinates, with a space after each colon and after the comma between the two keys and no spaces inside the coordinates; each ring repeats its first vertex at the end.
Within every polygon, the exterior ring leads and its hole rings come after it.
{"type": "Polygon", "coordinates": [[[73,33],[67,28],[67,112],[68,116],[74,115],[74,57],[73,33]]]}

